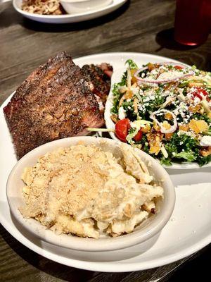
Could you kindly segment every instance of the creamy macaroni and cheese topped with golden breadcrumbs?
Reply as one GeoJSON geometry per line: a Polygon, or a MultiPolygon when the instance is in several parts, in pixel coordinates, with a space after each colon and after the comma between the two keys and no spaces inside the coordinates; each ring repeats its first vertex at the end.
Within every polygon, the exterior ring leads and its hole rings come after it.
{"type": "Polygon", "coordinates": [[[163,188],[132,147],[122,159],[96,145],[59,148],[23,171],[20,212],[56,234],[113,237],[131,233],[157,209],[163,188]]]}

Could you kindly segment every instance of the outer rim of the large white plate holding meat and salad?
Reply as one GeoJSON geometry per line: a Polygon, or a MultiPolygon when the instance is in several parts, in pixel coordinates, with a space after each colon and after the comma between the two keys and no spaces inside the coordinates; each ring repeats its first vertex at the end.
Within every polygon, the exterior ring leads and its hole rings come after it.
{"type": "MultiPolygon", "coordinates": [[[[73,61],[75,63],[79,63],[79,61],[83,61],[90,58],[99,58],[101,56],[124,56],[129,54],[144,54],[145,56],[156,56],[156,57],[162,57],[154,54],[147,54],[147,53],[139,53],[139,52],[108,52],[108,53],[100,53],[100,54],[93,54],[93,55],[87,55],[87,56],[81,56],[74,58],[73,61]]],[[[162,57],[166,58],[166,57],[162,57]]],[[[169,59],[169,58],[167,58],[169,59]]],[[[0,109],[2,111],[5,104],[11,99],[13,93],[1,104],[0,109]]],[[[5,191],[6,192],[6,191],[5,191]]],[[[7,203],[8,204],[8,203],[7,203]]],[[[87,262],[82,261],[79,259],[66,259],[65,257],[61,257],[60,255],[56,255],[55,253],[52,253],[49,250],[44,250],[41,247],[37,246],[36,244],[30,242],[27,238],[25,238],[21,233],[17,233],[16,228],[14,229],[13,226],[11,226],[10,223],[4,219],[4,216],[0,213],[0,222],[2,226],[10,233],[16,240],[18,240],[20,243],[28,247],[30,250],[37,252],[39,255],[42,255],[48,259],[51,259],[55,262],[58,262],[60,264],[65,264],[67,266],[72,266],[78,269],[85,269],[90,271],[103,271],[103,272],[127,272],[127,271],[141,271],[146,269],[151,269],[154,267],[162,266],[165,264],[170,264],[172,262],[176,262],[179,259],[182,259],[184,257],[187,257],[188,255],[192,255],[194,252],[197,252],[198,250],[202,249],[209,243],[211,243],[211,233],[205,236],[205,238],[198,241],[198,243],[194,243],[191,245],[191,247],[186,248],[185,250],[180,250],[179,252],[175,253],[174,255],[167,255],[165,257],[162,257],[161,259],[153,259],[150,263],[150,266],[148,265],[149,262],[129,262],[121,264],[121,261],[118,261],[118,264],[113,264],[113,262],[87,262]],[[21,238],[23,236],[23,238],[21,238]]],[[[124,262],[124,261],[122,261],[124,262]]]]}

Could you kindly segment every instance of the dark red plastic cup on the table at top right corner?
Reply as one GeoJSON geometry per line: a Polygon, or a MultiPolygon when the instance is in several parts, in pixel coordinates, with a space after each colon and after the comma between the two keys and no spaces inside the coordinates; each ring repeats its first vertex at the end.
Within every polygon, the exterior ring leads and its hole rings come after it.
{"type": "Polygon", "coordinates": [[[211,0],[177,0],[174,39],[184,45],[206,41],[211,27],[211,0]]]}

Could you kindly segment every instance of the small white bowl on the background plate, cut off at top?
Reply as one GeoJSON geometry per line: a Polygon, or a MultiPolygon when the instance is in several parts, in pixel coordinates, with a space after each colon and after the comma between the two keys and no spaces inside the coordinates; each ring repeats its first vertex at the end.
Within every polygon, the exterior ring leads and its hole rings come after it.
{"type": "Polygon", "coordinates": [[[113,0],[60,0],[67,13],[84,13],[110,5],[113,0]]]}

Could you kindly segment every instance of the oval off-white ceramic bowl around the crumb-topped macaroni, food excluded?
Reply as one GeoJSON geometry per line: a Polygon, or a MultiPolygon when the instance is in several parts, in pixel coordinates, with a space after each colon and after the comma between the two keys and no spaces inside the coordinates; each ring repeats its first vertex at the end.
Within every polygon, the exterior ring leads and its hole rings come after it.
{"type": "Polygon", "coordinates": [[[151,167],[149,168],[149,171],[151,175],[153,175],[155,182],[162,185],[164,188],[164,200],[158,203],[159,212],[151,216],[149,219],[143,221],[140,226],[135,228],[134,232],[127,235],[121,235],[117,238],[104,236],[99,239],[79,238],[73,235],[65,234],[56,235],[53,233],[53,231],[46,229],[45,226],[42,226],[41,223],[35,219],[24,219],[22,214],[20,214],[18,207],[24,205],[22,194],[24,184],[21,180],[23,168],[26,166],[33,166],[37,162],[38,157],[46,154],[46,152],[51,152],[58,147],[70,147],[70,145],[76,145],[79,141],[83,141],[86,145],[96,144],[101,146],[103,150],[112,152],[116,157],[120,157],[122,154],[118,146],[120,142],[108,138],[90,136],[70,137],[56,140],[37,147],[26,154],[14,166],[8,177],[6,186],[7,199],[11,213],[18,221],[18,224],[22,226],[23,233],[24,228],[26,228],[27,231],[30,231],[30,233],[33,233],[41,240],[44,240],[48,243],[80,251],[111,251],[130,247],[139,243],[146,243],[147,245],[150,241],[149,239],[152,241],[152,238],[156,237],[160,233],[162,228],[170,219],[174,209],[175,191],[172,181],[170,180],[170,176],[167,174],[165,169],[158,164],[158,161],[139,149],[136,150],[136,153],[139,155],[139,157],[141,157],[146,164],[148,164],[148,161],[151,161],[151,167]]]}

